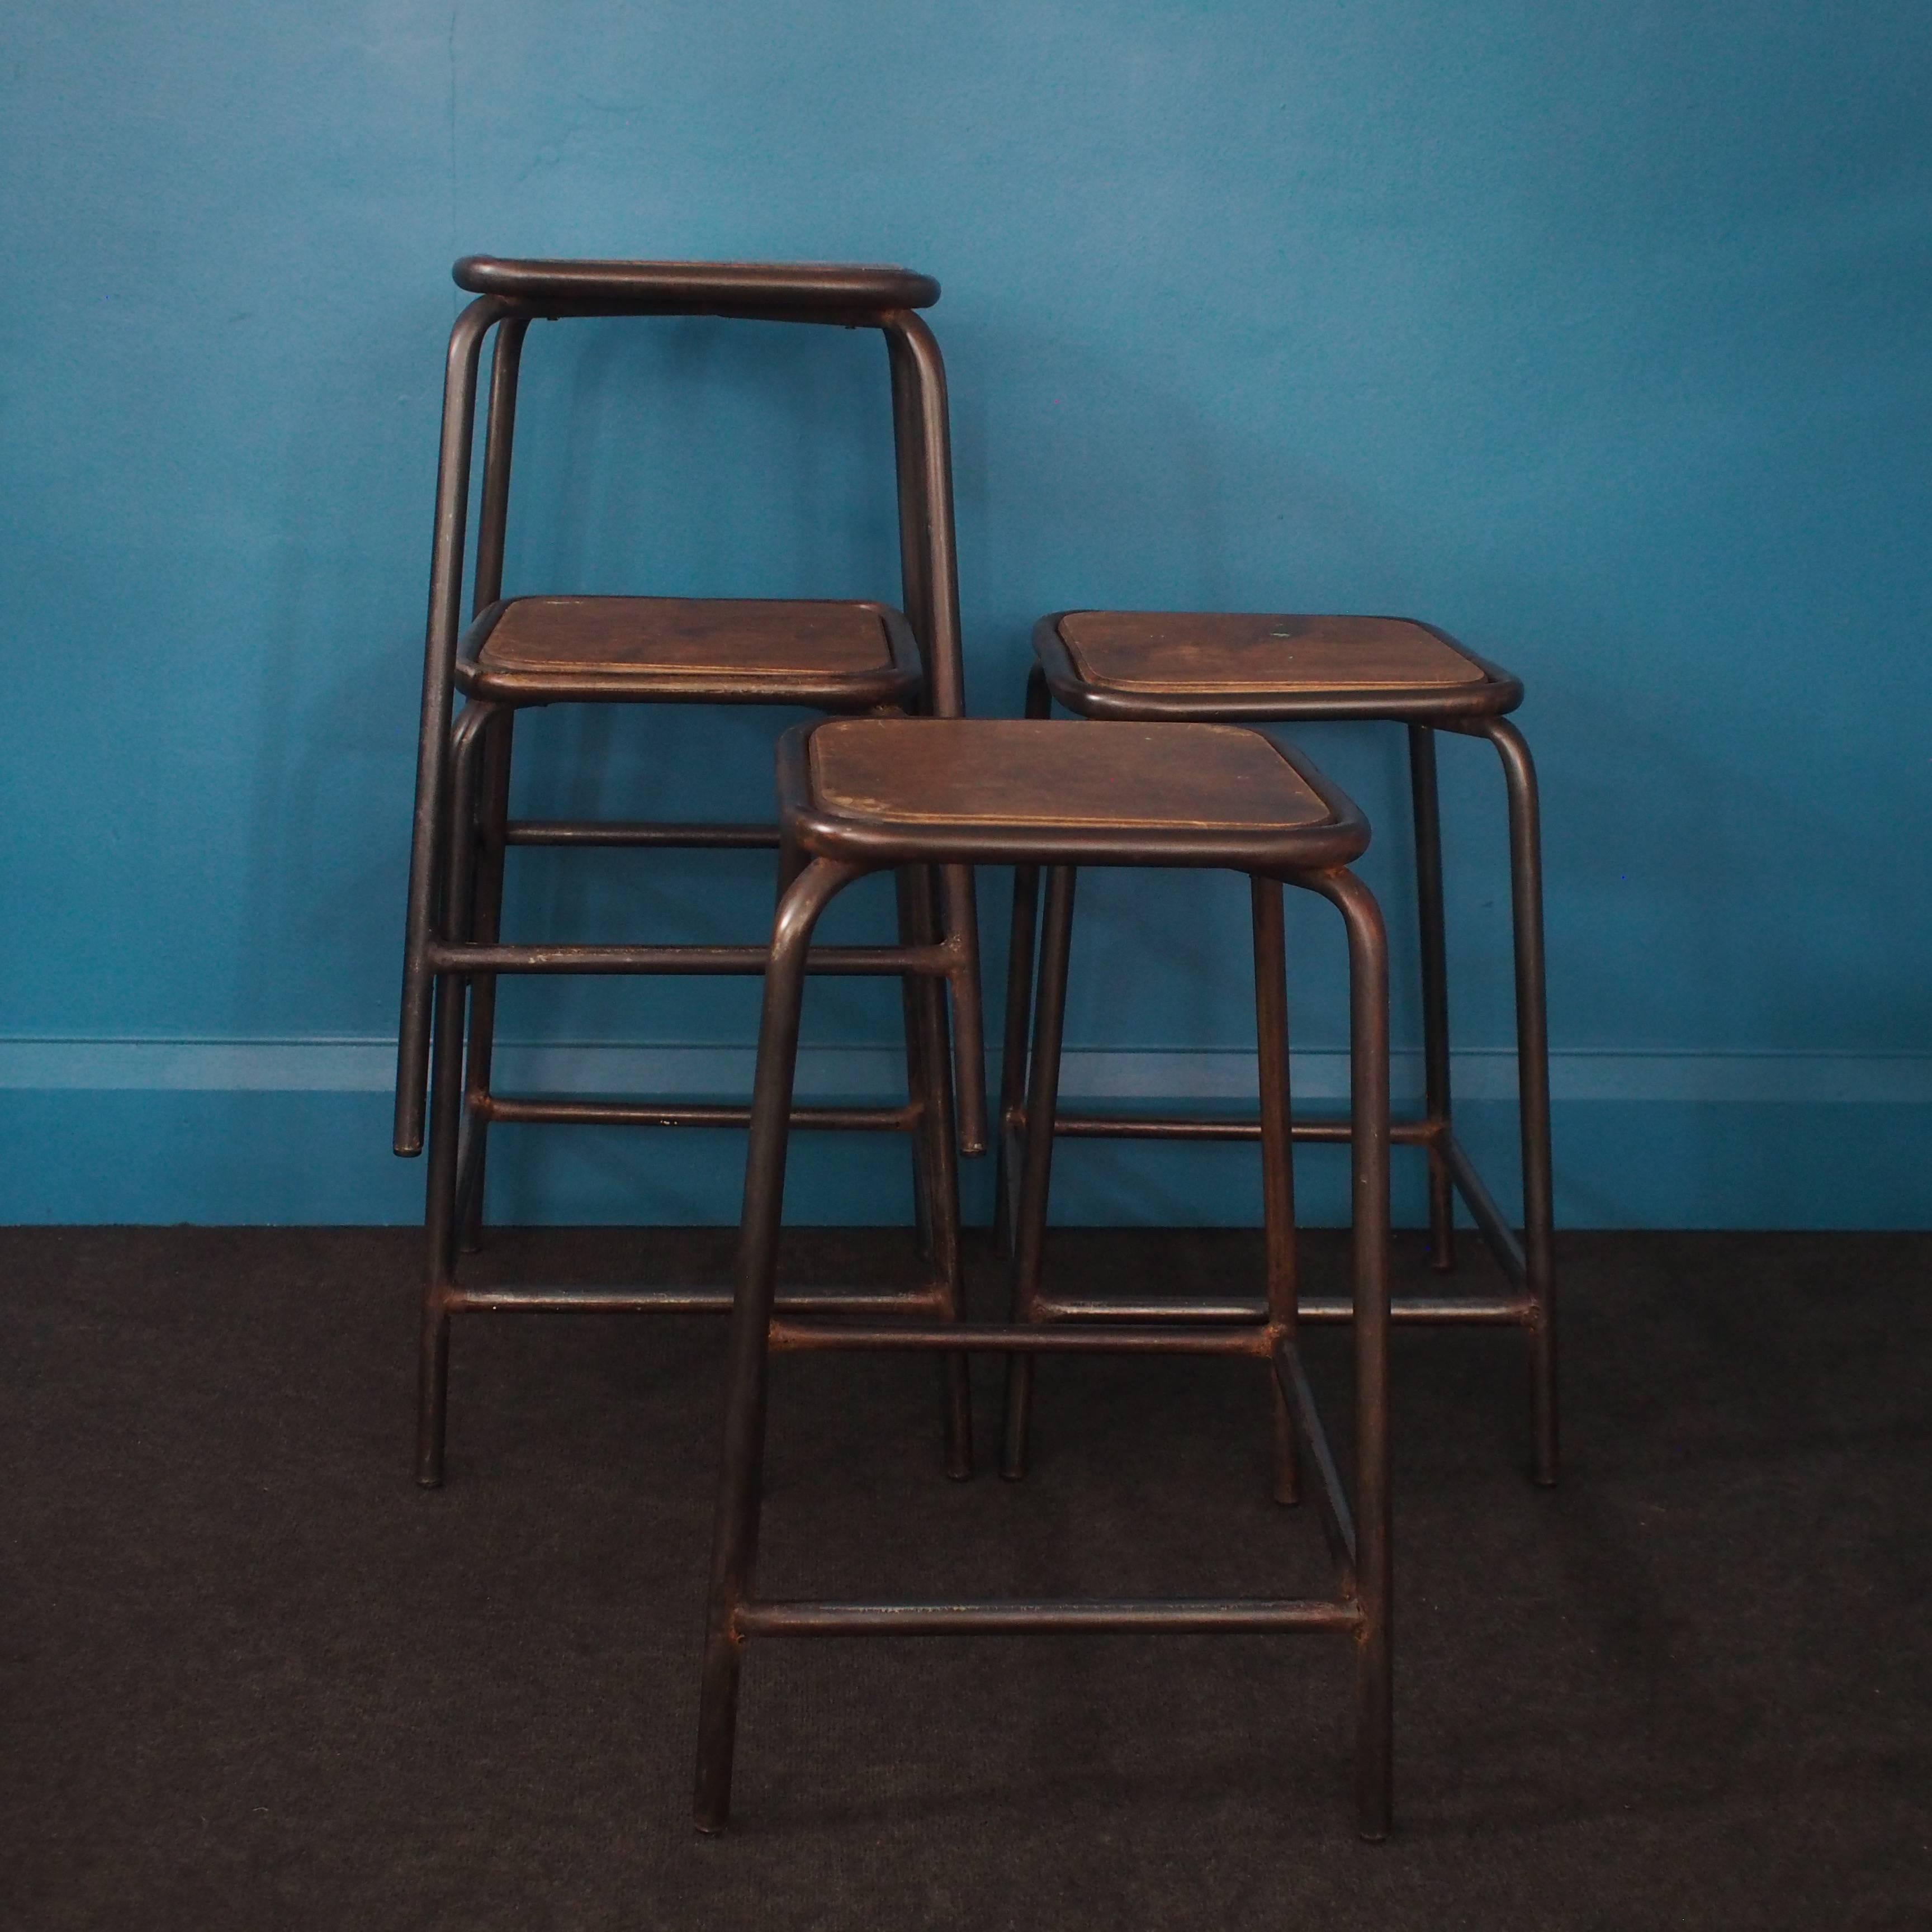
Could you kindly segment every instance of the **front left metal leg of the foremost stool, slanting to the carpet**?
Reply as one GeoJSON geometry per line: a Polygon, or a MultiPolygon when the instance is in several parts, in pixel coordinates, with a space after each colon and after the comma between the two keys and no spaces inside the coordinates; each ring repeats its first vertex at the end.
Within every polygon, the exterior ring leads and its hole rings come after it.
{"type": "Polygon", "coordinates": [[[779,1225],[784,1211],[784,1144],[798,1070],[798,1012],[806,989],[811,927],[831,898],[860,875],[854,866],[815,860],[790,885],[771,933],[765,1007],[752,1082],[752,1138],[744,1163],[744,1217],[738,1231],[738,1293],[726,1356],[724,1453],[711,1538],[711,1605],[697,1702],[699,1832],[723,1832],[730,1818],[730,1766],[738,1729],[738,1673],[744,1638],[738,1605],[752,1594],[757,1507],[765,1461],[767,1333],[777,1293],[779,1225]]]}

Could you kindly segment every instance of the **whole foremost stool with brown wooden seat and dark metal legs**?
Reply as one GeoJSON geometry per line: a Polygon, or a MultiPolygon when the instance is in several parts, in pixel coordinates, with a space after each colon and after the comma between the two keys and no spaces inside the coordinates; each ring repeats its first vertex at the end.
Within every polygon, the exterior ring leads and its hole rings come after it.
{"type": "MultiPolygon", "coordinates": [[[[779,902],[757,1039],[746,1155],[738,1300],[732,1310],[724,1455],[711,1555],[697,1737],[697,1828],[730,1812],[744,1646],[761,1636],[1024,1631],[1337,1631],[1356,1654],[1356,1810],[1366,1837],[1389,1828],[1389,1014],[1381,914],[1349,862],[1368,844],[1360,813],[1294,753],[1215,724],[987,719],[835,719],[779,742],[779,811],[794,877],[779,902]],[[1053,1327],[788,1320],[775,1302],[779,1219],[798,1014],[811,927],[854,879],[887,866],[1051,867],[1047,951],[1065,947],[1074,866],[1194,866],[1244,871],[1262,910],[1256,949],[1267,1294],[1244,1323],[1053,1327]],[[1281,881],[1320,893],[1349,935],[1354,1099],[1354,1507],[1341,1486],[1296,1354],[1289,1173],[1287,987],[1281,881]],[[1273,910],[1267,910],[1273,908],[1273,910]],[[1333,1598],[1167,1602],[775,1602],[753,1592],[765,1389],[773,1349],[991,1349],[1227,1354],[1269,1364],[1308,1463],[1335,1555],[1333,1598]]],[[[1051,1115],[1059,1003],[1039,1003],[1034,1103],[1051,1115]]],[[[1022,1225],[1045,1221],[1051,1136],[1036,1136],[1022,1225]]],[[[1016,1271],[1028,1264],[1016,1262],[1016,1271]]],[[[1161,1310],[1161,1316],[1169,1316],[1161,1310]]]]}

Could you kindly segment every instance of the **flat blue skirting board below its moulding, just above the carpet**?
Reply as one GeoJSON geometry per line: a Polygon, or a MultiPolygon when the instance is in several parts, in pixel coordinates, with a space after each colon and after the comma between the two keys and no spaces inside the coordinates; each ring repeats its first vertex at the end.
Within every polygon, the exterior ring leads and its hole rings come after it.
{"type": "MultiPolygon", "coordinates": [[[[33,1138],[29,1169],[0,1175],[0,1221],[410,1223],[421,1163],[388,1153],[381,1094],[27,1092],[8,1095],[10,1134],[33,1138]],[[211,1213],[207,1204],[216,1204],[211,1213]]],[[[1505,1198],[1515,1115],[1463,1107],[1461,1132],[1505,1198]]],[[[1932,1105],[1559,1101],[1563,1227],[1922,1227],[1932,1105]]],[[[491,1150],[489,1211],[520,1225],[717,1225],[738,1217],[744,1136],[614,1130],[526,1136],[491,1150]],[[508,1150],[514,1148],[514,1153],[508,1150]]],[[[1260,1163],[1242,1148],[1080,1142],[1055,1165],[1065,1227],[1248,1227],[1260,1163]]],[[[966,1167],[968,1219],[991,1217],[985,1163],[966,1167]]],[[[1395,1208],[1424,1225],[1420,1157],[1397,1153],[1395,1208]]],[[[1296,1153],[1296,1211],[1349,1217],[1347,1159],[1296,1153]]],[[[810,1225],[904,1223],[904,1150],[885,1138],[802,1136],[786,1217],[810,1225]]],[[[1474,1236],[1472,1236],[1474,1238],[1474,1236]]]]}

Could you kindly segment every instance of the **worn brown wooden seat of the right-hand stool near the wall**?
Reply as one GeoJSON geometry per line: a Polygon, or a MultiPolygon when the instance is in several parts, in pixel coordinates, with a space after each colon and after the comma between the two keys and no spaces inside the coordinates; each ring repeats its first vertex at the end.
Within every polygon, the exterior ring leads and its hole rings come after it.
{"type": "Polygon", "coordinates": [[[1061,611],[1034,649],[1086,717],[1495,717],[1522,684],[1432,624],[1296,612],[1061,611]]]}

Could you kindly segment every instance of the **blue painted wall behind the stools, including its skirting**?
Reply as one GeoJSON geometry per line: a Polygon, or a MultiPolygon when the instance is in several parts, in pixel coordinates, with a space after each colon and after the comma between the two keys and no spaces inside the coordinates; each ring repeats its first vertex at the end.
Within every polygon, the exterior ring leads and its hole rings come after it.
{"type": "MultiPolygon", "coordinates": [[[[446,269],[483,249],[937,274],[978,709],[1057,605],[1447,626],[1530,690],[1563,1215],[1924,1221],[1922,0],[68,0],[8,39],[0,1217],[417,1209],[384,1039],[446,269]]],[[[510,589],[896,593],[875,338],[562,325],[526,367],[510,589]]],[[[742,813],[767,742],[543,717],[524,800],[742,813]]],[[[1399,740],[1308,742],[1393,891],[1399,740]]],[[[1486,757],[1445,746],[1457,1043],[1507,1167],[1486,757]]],[[[531,856],[512,923],[750,937],[763,871],[724,866],[531,856]]],[[[1238,1092],[1238,885],[1084,908],[1074,1084],[1238,1092]]],[[[1339,1092],[1337,937],[1293,939],[1339,1092]]],[[[742,1078],[746,985],[531,993],[531,1078],[742,1078]]],[[[808,1032],[817,1086],[891,1078],[881,989],[821,983],[808,1032]]],[[[497,1211],[728,1219],[738,1151],[506,1136],[497,1211]]],[[[902,1192],[837,1142],[794,1211],[902,1192]]],[[[1059,1208],[1252,1200],[1238,1150],[1082,1148],[1059,1208]]]]}

